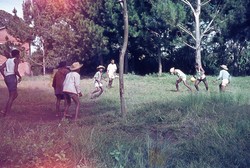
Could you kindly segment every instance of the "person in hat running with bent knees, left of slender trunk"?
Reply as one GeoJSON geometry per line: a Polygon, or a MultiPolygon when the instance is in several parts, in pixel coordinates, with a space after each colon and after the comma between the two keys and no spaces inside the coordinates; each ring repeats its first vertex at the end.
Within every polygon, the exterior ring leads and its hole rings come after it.
{"type": "Polygon", "coordinates": [[[91,99],[99,97],[103,93],[103,84],[102,84],[102,79],[103,79],[103,70],[105,69],[104,66],[99,65],[96,68],[98,71],[94,75],[94,85],[95,85],[95,90],[91,93],[91,99]],[[95,93],[98,93],[95,95],[95,93]]]}

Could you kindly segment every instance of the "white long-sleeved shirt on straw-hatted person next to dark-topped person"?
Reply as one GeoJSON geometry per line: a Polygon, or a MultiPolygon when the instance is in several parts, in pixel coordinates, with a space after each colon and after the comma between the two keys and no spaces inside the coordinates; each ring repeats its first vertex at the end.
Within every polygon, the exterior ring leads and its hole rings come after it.
{"type": "Polygon", "coordinates": [[[77,72],[69,72],[63,82],[63,92],[78,94],[80,90],[80,75],[77,72]]]}

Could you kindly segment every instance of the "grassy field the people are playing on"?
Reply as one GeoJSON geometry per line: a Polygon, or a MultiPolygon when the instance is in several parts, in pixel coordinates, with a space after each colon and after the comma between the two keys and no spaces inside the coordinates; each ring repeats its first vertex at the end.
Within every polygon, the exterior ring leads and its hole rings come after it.
{"type": "MultiPolygon", "coordinates": [[[[209,76],[209,91],[189,92],[175,76],[125,75],[126,119],[118,80],[90,99],[83,78],[77,122],[55,116],[49,76],[25,78],[12,113],[0,118],[1,168],[245,168],[250,167],[250,77],[235,77],[225,93],[209,76]]],[[[0,81],[0,108],[7,90],[0,81]]],[[[70,111],[74,114],[74,104],[70,111]]]]}

